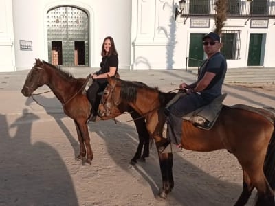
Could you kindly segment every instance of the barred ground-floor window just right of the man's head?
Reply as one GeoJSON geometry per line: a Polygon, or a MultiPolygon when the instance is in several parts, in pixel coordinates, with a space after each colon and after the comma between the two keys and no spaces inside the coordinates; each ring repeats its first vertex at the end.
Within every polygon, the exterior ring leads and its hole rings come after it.
{"type": "Polygon", "coordinates": [[[241,30],[222,30],[221,41],[223,47],[221,52],[228,60],[238,60],[240,58],[241,30]]]}

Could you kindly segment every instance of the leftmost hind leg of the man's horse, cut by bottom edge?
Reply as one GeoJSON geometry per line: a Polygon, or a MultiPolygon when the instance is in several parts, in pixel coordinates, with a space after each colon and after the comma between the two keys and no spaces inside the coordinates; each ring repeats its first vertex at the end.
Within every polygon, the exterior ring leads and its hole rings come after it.
{"type": "Polygon", "coordinates": [[[252,185],[248,173],[243,170],[243,192],[234,206],[242,206],[248,203],[248,198],[250,198],[253,189],[254,185],[252,185]]]}

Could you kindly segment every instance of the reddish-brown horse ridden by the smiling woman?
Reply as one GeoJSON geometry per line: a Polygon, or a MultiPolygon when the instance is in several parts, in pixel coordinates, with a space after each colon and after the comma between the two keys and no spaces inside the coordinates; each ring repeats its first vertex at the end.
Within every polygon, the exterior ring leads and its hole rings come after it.
{"type": "MultiPolygon", "coordinates": [[[[61,102],[64,113],[68,117],[74,119],[80,144],[80,153],[77,158],[85,160],[87,163],[91,164],[91,161],[94,158],[94,153],[91,150],[87,126],[87,120],[91,115],[91,104],[89,103],[87,96],[83,94],[87,80],[85,78],[74,78],[71,73],[63,71],[48,62],[36,59],[34,67],[32,67],[25,79],[21,93],[26,97],[30,97],[36,89],[44,84],[50,87],[54,95],[56,95],[56,98],[61,102]]],[[[137,163],[137,159],[145,161],[145,158],[149,156],[149,135],[146,130],[144,118],[141,118],[140,115],[133,111],[130,106],[120,106],[122,113],[125,111],[130,112],[131,117],[134,119],[140,140],[137,146],[137,151],[135,152],[133,159],[131,159],[131,163],[137,163]],[[144,151],[142,154],[143,146],[144,151]]]]}

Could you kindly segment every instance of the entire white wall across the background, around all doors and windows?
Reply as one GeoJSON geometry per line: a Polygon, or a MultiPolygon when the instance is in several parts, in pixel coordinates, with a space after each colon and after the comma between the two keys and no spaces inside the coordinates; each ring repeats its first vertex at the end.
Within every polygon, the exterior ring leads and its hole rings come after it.
{"type": "MultiPolygon", "coordinates": [[[[112,36],[120,69],[184,69],[190,33],[214,30],[214,19],[209,28],[191,28],[190,17],[175,21],[175,0],[0,0],[0,71],[30,69],[35,58],[48,60],[46,14],[63,5],[89,15],[91,67],[99,67],[102,41],[112,36]],[[20,50],[20,40],[32,41],[32,51],[20,50]]],[[[228,68],[248,67],[251,33],[266,34],[263,67],[275,65],[274,19],[269,19],[268,28],[250,28],[250,21],[229,18],[225,24],[225,30],[241,30],[240,59],[228,60],[228,68]]]]}

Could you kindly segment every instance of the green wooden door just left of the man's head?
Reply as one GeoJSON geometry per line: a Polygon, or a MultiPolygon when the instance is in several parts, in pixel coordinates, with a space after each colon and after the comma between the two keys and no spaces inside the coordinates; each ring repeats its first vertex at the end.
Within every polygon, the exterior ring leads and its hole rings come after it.
{"type": "Polygon", "coordinates": [[[190,34],[188,67],[198,67],[203,60],[202,38],[205,34],[190,34]]]}

